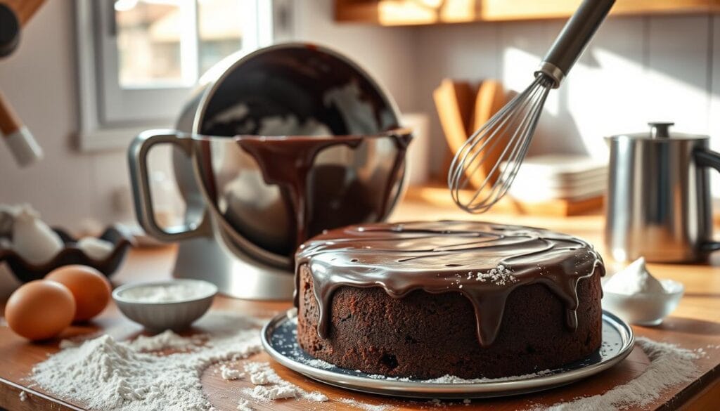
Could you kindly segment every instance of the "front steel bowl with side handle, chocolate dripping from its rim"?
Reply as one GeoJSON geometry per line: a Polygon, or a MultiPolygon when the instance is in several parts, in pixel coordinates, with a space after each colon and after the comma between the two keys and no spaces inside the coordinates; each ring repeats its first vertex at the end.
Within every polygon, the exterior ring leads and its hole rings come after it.
{"type": "Polygon", "coordinates": [[[174,144],[192,158],[197,186],[222,240],[264,263],[291,267],[297,245],[313,235],[387,217],[402,194],[411,138],[404,129],[230,138],[148,130],[130,148],[138,215],[168,238],[207,234],[204,224],[168,232],[153,218],[147,156],[153,145],[174,144]],[[312,155],[302,155],[303,150],[312,155]]]}

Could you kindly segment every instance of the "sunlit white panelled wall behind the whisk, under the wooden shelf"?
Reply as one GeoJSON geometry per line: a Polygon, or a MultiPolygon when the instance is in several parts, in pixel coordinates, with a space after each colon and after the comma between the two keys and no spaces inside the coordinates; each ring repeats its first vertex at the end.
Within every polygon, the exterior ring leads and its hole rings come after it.
{"type": "MultiPolygon", "coordinates": [[[[521,91],[564,22],[423,27],[418,108],[432,115],[433,153],[444,150],[431,92],[442,78],[499,78],[521,91]]],[[[720,17],[611,17],[561,89],[546,102],[531,153],[606,155],[604,136],[652,120],[713,136],[720,148],[720,17]],[[711,38],[711,37],[714,37],[711,38]]],[[[433,158],[436,170],[441,155],[433,158]]]]}

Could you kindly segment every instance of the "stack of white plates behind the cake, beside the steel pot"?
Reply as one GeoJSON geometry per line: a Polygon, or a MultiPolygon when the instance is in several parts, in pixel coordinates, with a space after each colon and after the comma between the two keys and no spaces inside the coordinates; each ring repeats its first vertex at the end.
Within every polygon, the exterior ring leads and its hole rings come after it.
{"type": "Polygon", "coordinates": [[[585,155],[538,155],[523,161],[508,194],[522,202],[582,201],[602,196],[606,161],[585,155]]]}

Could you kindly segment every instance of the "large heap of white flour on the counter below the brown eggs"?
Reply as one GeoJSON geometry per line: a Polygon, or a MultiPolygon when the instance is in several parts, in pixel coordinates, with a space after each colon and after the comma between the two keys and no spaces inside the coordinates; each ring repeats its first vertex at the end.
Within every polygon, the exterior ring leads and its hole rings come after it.
{"type": "Polygon", "coordinates": [[[94,410],[210,411],[200,377],[212,363],[237,360],[261,351],[261,320],[211,313],[199,322],[207,343],[193,351],[158,356],[143,348],[193,346],[197,339],[158,334],[138,342],[120,342],[109,335],[65,348],[37,364],[31,379],[58,397],[94,410]]]}

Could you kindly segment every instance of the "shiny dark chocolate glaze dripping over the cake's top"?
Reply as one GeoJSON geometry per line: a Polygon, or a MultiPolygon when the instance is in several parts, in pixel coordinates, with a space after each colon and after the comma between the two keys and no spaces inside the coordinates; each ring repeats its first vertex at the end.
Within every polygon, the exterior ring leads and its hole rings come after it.
{"type": "MultiPolygon", "coordinates": [[[[328,337],[330,299],[341,286],[382,287],[400,298],[417,289],[459,292],[474,307],[477,339],[490,345],[503,320],[505,300],[518,286],[545,284],[565,304],[567,327],[577,328],[577,283],[603,263],[579,238],[531,227],[486,222],[405,222],[343,227],[300,246],[296,281],[307,265],[320,308],[318,335],[328,337]],[[499,266],[513,279],[477,280],[499,266]]],[[[298,304],[296,284],[295,305],[298,304]]]]}

